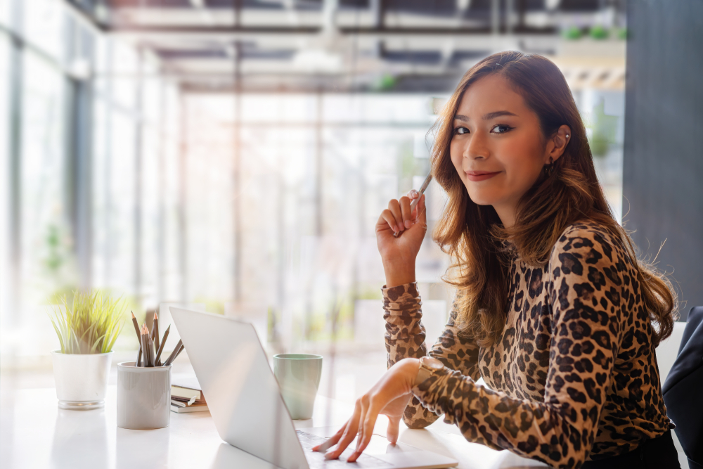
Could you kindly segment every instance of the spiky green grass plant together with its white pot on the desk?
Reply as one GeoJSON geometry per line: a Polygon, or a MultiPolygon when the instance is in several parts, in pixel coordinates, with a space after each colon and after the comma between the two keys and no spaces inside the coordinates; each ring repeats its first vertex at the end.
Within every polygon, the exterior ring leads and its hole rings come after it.
{"type": "Polygon", "coordinates": [[[52,352],[59,409],[105,406],[112,345],[124,324],[122,301],[99,290],[75,292],[56,307],[51,323],[61,345],[52,352]]]}

